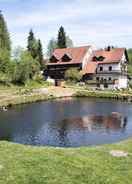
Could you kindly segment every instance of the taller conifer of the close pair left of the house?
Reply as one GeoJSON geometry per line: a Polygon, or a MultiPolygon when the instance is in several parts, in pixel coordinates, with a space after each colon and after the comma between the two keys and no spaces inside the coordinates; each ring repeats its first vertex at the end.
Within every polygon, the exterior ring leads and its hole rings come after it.
{"type": "Polygon", "coordinates": [[[38,42],[36,41],[32,29],[29,32],[27,49],[31,56],[35,59],[37,57],[38,42]]]}

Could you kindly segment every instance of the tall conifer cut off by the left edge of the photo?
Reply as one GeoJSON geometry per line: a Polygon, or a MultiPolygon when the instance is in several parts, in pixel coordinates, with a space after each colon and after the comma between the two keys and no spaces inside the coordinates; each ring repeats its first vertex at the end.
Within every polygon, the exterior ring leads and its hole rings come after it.
{"type": "Polygon", "coordinates": [[[0,50],[7,52],[8,57],[10,57],[11,41],[10,41],[8,29],[7,29],[7,24],[4,20],[4,17],[1,11],[0,11],[0,50]]]}

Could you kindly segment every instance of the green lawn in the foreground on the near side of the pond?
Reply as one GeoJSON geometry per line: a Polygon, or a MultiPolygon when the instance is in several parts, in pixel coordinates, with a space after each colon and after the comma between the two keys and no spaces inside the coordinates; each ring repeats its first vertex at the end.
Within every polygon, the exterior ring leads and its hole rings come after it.
{"type": "Polygon", "coordinates": [[[92,148],[59,149],[0,142],[0,184],[131,184],[132,139],[92,148]],[[111,150],[128,152],[113,157],[111,150]]]}

